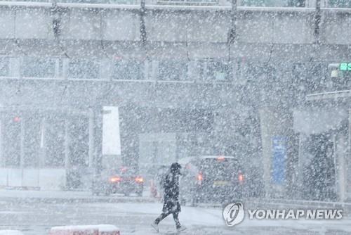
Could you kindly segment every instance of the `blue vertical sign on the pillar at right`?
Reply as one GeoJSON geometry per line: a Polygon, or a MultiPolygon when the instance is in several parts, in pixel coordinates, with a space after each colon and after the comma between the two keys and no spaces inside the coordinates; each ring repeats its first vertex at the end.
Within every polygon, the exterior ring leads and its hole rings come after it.
{"type": "Polygon", "coordinates": [[[272,183],[283,184],[286,172],[286,138],[284,136],[274,136],[272,142],[272,183]]]}

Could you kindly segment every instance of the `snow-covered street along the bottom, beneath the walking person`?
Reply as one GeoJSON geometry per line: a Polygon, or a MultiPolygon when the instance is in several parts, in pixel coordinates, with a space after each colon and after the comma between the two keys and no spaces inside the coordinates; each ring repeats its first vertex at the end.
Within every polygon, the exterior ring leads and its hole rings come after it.
{"type": "MultiPolygon", "coordinates": [[[[11,193],[20,191],[10,191],[11,193]]],[[[35,195],[37,192],[32,193],[35,195]]],[[[29,193],[30,194],[30,193],[29,193]]],[[[41,193],[43,194],[43,193],[41,193]]],[[[84,202],[84,193],[70,193],[76,201],[69,202],[61,193],[61,199],[55,198],[44,202],[23,200],[23,198],[5,198],[6,191],[0,191],[0,229],[18,229],[26,234],[48,234],[54,226],[75,224],[114,224],[121,234],[156,234],[150,223],[161,212],[162,204],[150,202],[150,198],[110,196],[114,202],[97,200],[84,202]],[[80,197],[78,198],[78,196],[80,197]],[[81,202],[79,202],[81,201],[81,202]],[[121,201],[120,203],[118,201],[121,201]],[[145,201],[145,202],[143,202],[145,201]]],[[[44,196],[43,198],[49,198],[44,196]]],[[[28,199],[28,198],[27,198],[28,199]]],[[[37,193],[37,199],[39,193],[37,193]]],[[[106,200],[105,198],[103,200],[106,200]]],[[[255,203],[246,203],[251,208],[255,203]]],[[[267,205],[267,207],[275,207],[267,205]]],[[[306,205],[307,206],[307,205],[306,205]]],[[[281,208],[289,205],[279,204],[281,208]]],[[[262,208],[262,205],[260,205],[262,208]]],[[[291,208],[291,205],[290,205],[291,208]]],[[[225,226],[220,208],[187,207],[180,212],[180,222],[187,227],[182,234],[350,234],[351,220],[246,220],[234,228],[225,226]]],[[[167,217],[159,225],[162,233],[176,231],[172,217],[167,217]]]]}

